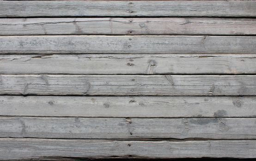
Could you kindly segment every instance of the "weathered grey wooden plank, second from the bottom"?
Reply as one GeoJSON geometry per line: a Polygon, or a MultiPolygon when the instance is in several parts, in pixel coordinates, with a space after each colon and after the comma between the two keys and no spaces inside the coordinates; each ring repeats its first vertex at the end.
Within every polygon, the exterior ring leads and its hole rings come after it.
{"type": "Polygon", "coordinates": [[[0,138],[256,139],[256,118],[0,117],[0,138]]]}

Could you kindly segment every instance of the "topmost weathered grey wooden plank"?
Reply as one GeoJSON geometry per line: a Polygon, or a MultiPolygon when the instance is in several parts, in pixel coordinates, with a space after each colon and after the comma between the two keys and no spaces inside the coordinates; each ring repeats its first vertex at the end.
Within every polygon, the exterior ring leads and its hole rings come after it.
{"type": "Polygon", "coordinates": [[[0,1],[0,17],[256,17],[255,10],[253,0],[0,1]]]}

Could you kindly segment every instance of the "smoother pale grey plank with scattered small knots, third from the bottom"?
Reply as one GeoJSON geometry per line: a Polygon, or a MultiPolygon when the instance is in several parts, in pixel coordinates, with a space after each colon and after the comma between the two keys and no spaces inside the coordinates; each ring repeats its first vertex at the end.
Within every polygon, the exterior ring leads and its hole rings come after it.
{"type": "Polygon", "coordinates": [[[256,97],[0,96],[1,116],[256,117],[256,97]]]}

